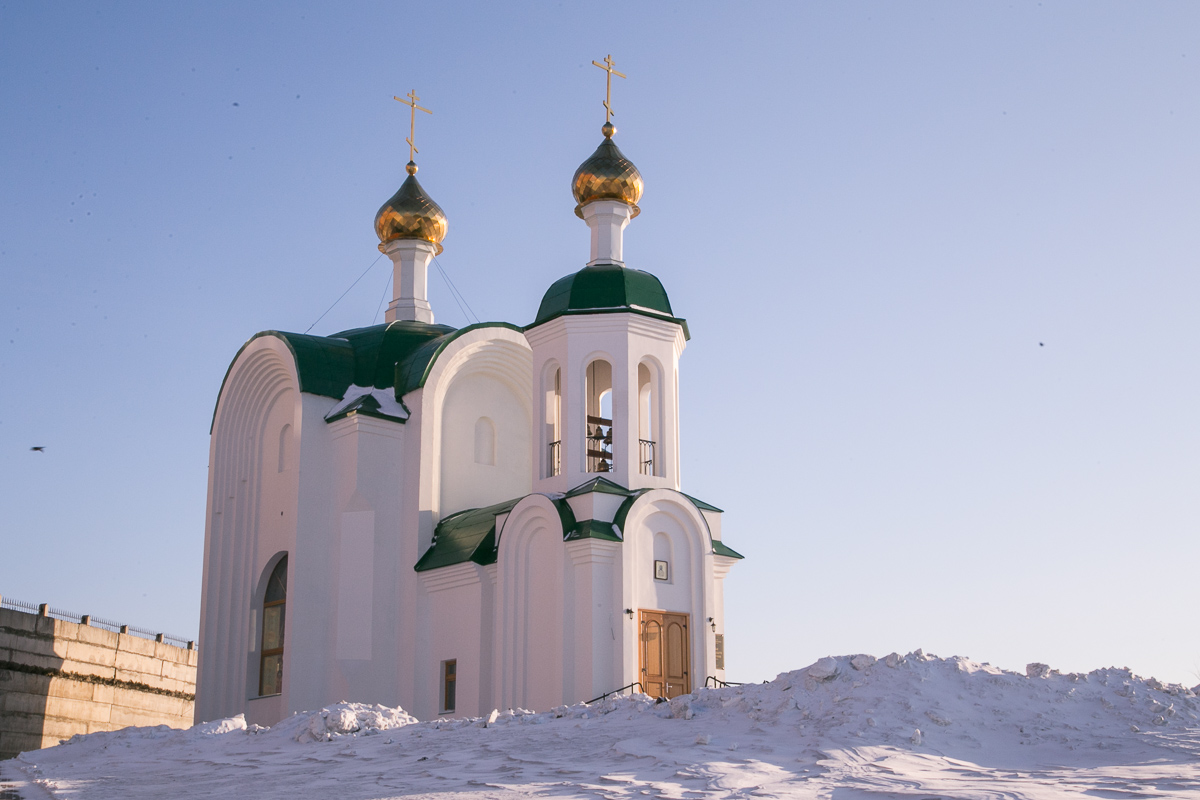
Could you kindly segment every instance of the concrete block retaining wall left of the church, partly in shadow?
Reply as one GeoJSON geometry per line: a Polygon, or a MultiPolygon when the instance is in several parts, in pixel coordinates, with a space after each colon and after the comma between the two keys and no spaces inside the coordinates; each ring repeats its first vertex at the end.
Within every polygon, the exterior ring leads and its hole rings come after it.
{"type": "Polygon", "coordinates": [[[197,651],[0,608],[0,759],[77,733],[192,724],[197,651]]]}

